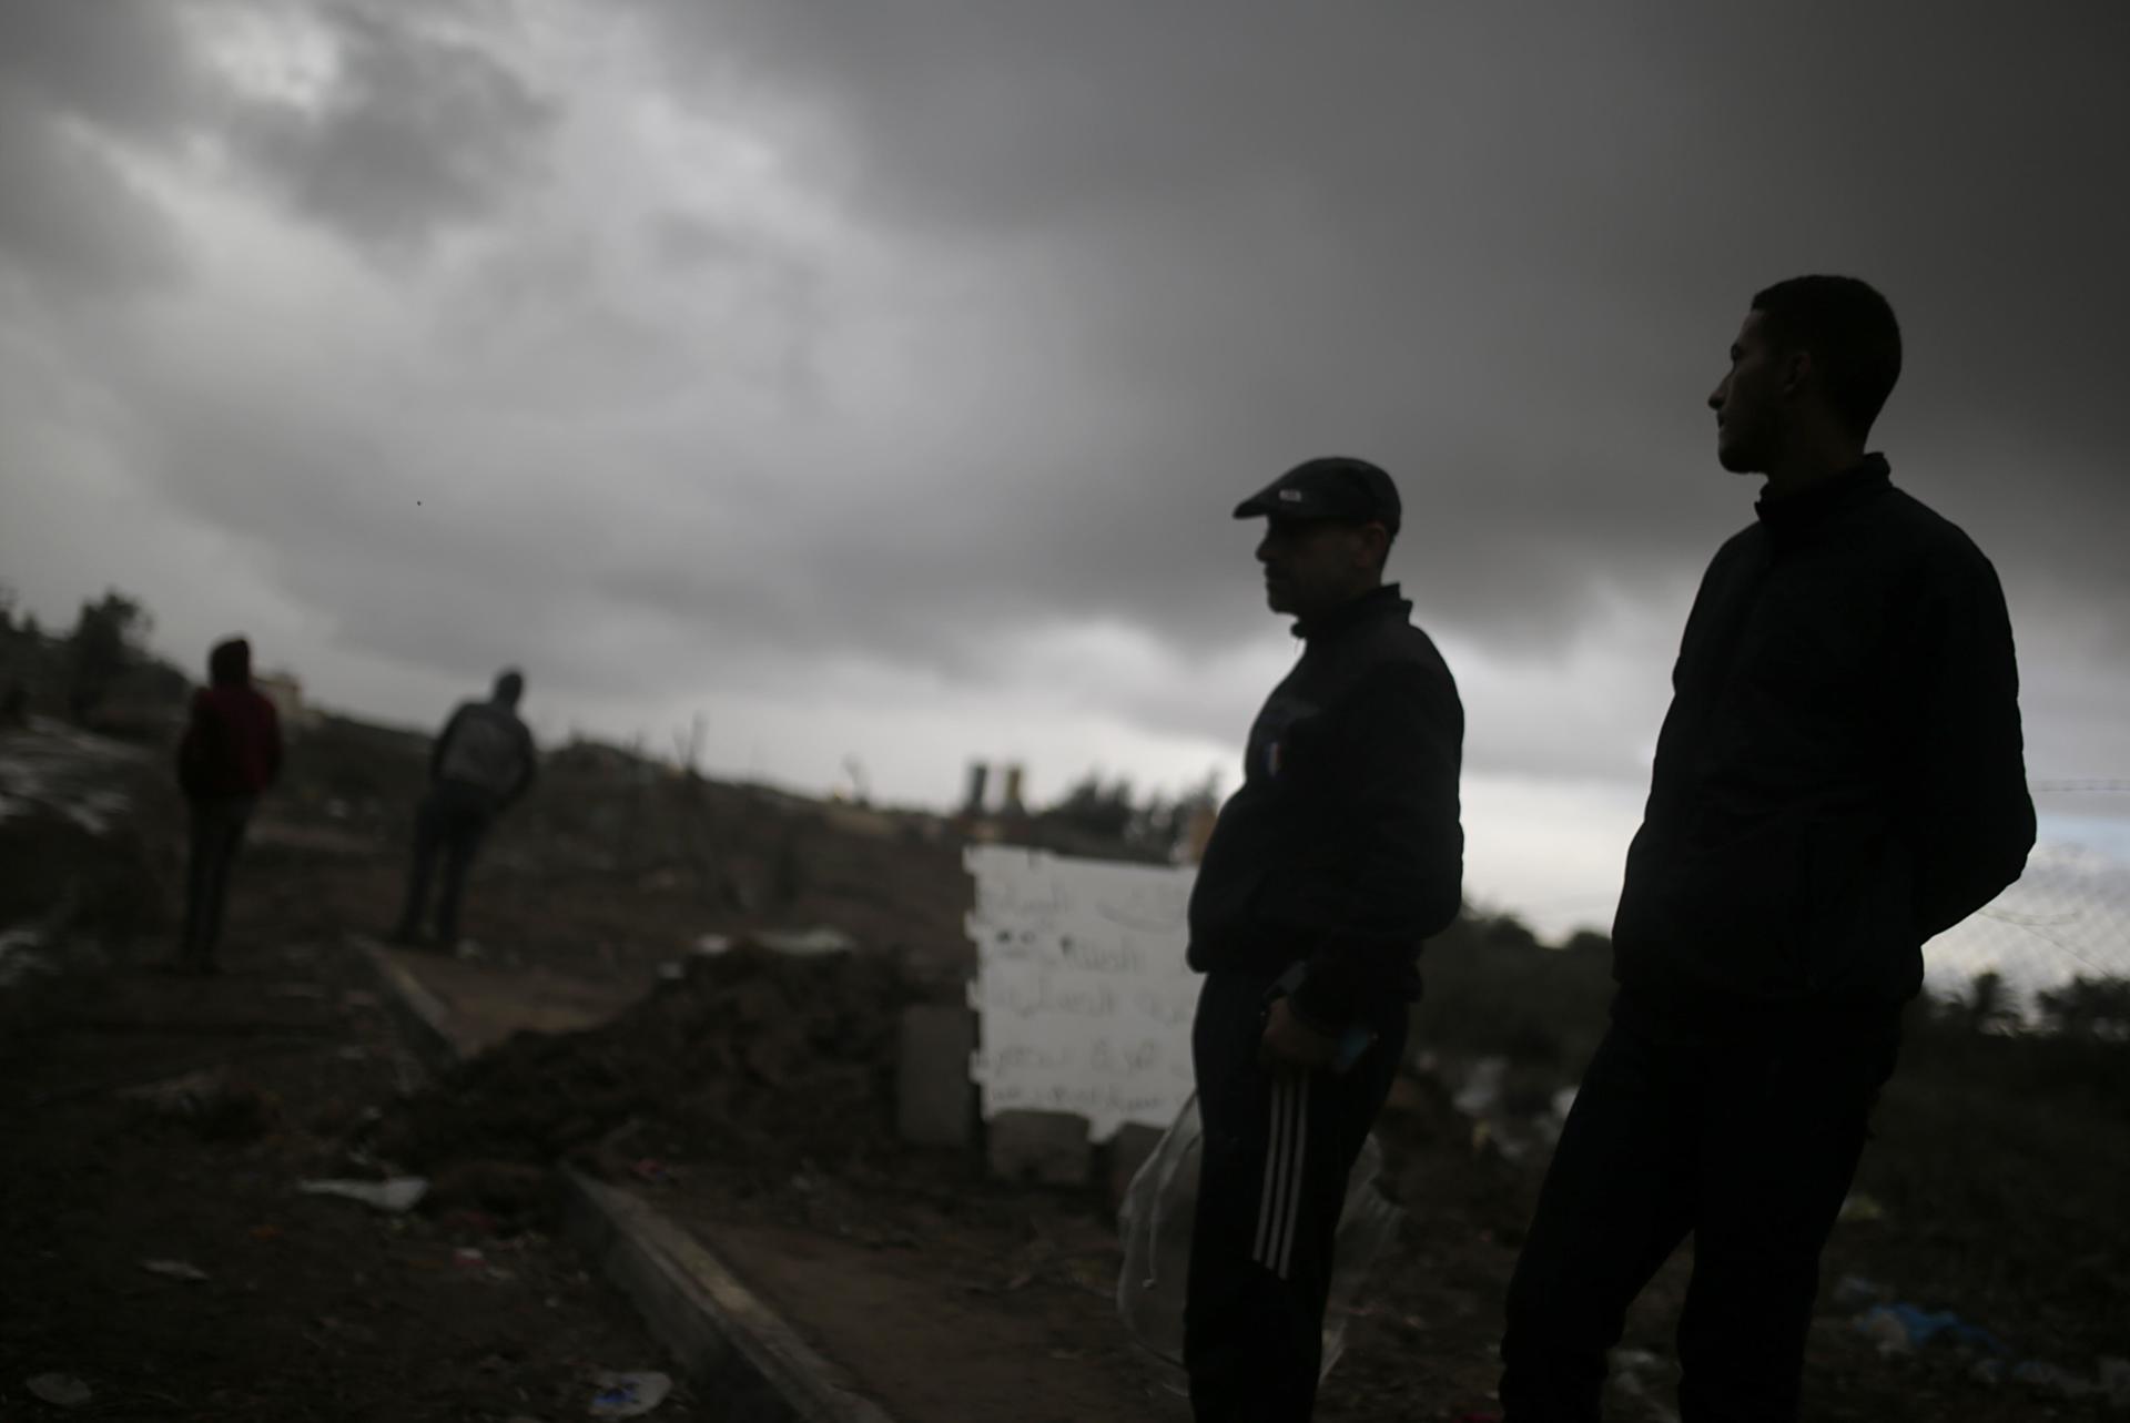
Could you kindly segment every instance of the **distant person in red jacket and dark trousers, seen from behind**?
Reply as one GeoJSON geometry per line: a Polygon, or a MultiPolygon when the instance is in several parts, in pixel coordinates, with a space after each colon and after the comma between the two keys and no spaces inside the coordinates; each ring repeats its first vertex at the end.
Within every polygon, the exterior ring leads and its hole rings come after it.
{"type": "Polygon", "coordinates": [[[209,686],[192,694],[192,722],[177,746],[177,784],[192,807],[185,937],[179,965],[215,971],[230,865],[251,807],[281,775],[281,720],[251,686],[251,643],[232,637],[207,658],[209,686]]]}

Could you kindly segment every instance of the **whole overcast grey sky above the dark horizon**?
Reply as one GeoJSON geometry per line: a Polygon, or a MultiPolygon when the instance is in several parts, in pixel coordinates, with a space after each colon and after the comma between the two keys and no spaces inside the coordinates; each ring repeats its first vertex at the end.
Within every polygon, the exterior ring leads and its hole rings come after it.
{"type": "Polygon", "coordinates": [[[0,579],[403,722],[522,663],[547,737],[701,709],[812,788],[1233,784],[1293,643],[1227,511],[1365,454],[1474,888],[1602,920],[1751,518],[1702,400],[1755,288],[1845,271],[2030,769],[2130,775],[2130,11],[1913,15],[17,0],[0,579]]]}

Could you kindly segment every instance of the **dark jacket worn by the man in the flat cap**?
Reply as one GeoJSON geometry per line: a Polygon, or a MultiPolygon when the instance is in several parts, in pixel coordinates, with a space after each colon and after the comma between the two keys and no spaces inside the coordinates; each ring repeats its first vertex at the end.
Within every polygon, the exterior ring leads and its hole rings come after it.
{"type": "Polygon", "coordinates": [[[1404,1012],[1421,939],[1457,918],[1463,705],[1410,611],[1391,586],[1295,626],[1191,888],[1191,967],[1306,961],[1291,1001],[1316,1027],[1404,1012]]]}

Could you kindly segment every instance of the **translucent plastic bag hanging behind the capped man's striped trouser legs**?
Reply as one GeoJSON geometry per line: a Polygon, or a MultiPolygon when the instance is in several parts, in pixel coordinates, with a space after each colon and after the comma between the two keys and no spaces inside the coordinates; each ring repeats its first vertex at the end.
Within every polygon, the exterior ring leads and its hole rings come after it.
{"type": "MultiPolygon", "coordinates": [[[[1148,1353],[1176,1365],[1172,1387],[1182,1389],[1184,1282],[1191,1272],[1191,1221],[1197,1214],[1199,1148],[1197,1093],[1140,1165],[1118,1210],[1125,1267],[1116,1280],[1116,1312],[1148,1353]]],[[[1370,1135],[1346,1178],[1331,1265],[1331,1302],[1325,1308],[1323,1374],[1346,1344],[1346,1316],[1361,1299],[1367,1274],[1389,1248],[1406,1214],[1382,1197],[1382,1146],[1370,1135]]]]}

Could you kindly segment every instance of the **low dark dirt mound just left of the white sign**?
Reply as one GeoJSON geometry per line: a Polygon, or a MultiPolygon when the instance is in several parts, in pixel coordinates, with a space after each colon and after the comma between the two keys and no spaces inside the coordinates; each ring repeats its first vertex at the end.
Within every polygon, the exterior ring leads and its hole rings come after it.
{"type": "Polygon", "coordinates": [[[652,1157],[788,1174],[871,1157],[895,1144],[910,997],[882,954],[741,944],[601,1029],[511,1037],[405,1103],[379,1146],[422,1170],[652,1157]]]}

